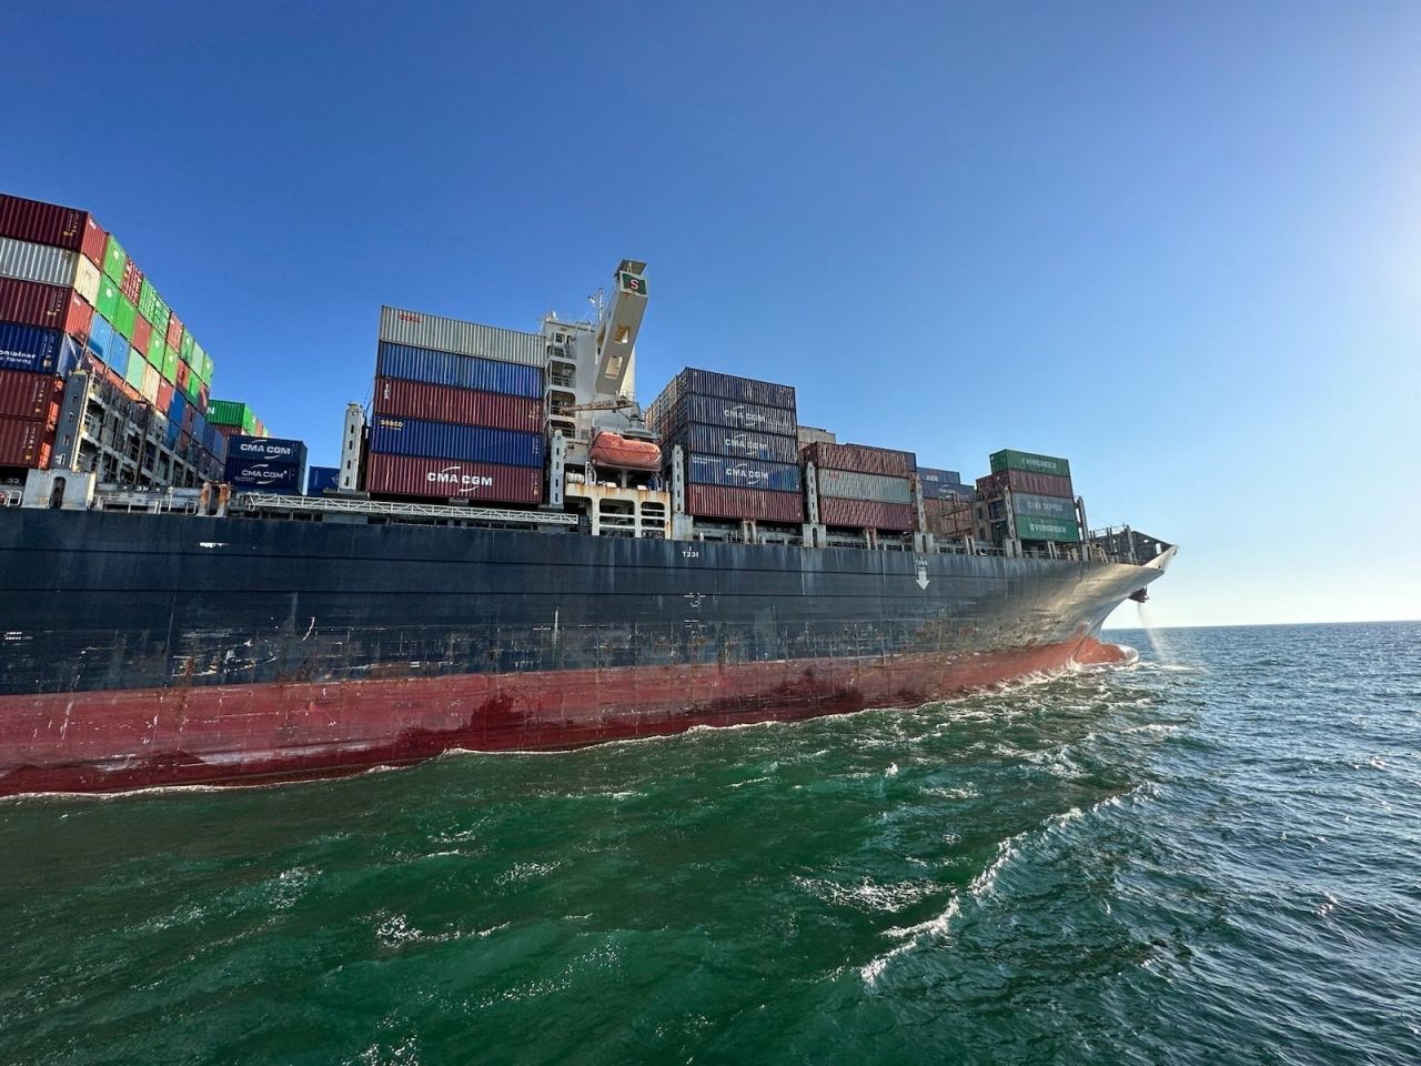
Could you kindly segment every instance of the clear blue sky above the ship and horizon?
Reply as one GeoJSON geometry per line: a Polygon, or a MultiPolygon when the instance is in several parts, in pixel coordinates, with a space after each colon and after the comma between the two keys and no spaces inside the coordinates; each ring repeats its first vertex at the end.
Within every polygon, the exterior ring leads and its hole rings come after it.
{"type": "Polygon", "coordinates": [[[313,462],[381,303],[531,330],[627,256],[644,399],[1066,455],[1185,546],[1161,624],[1421,617],[1415,4],[28,10],[0,186],[94,210],[313,462]]]}

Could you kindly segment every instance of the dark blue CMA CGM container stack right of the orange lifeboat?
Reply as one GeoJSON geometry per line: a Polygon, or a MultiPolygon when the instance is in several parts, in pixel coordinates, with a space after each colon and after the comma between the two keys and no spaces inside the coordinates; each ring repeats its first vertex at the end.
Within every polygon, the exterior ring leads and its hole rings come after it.
{"type": "Polygon", "coordinates": [[[686,512],[696,517],[804,520],[794,389],[686,368],[648,409],[669,461],[686,462],[686,512]]]}

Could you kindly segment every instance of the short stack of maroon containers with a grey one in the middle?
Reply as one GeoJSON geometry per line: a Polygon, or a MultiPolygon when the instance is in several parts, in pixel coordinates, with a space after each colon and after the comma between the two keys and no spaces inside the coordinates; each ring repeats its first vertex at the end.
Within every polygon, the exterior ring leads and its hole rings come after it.
{"type": "Polygon", "coordinates": [[[912,452],[818,441],[803,456],[816,468],[818,520],[826,526],[898,533],[918,527],[912,452]]]}

